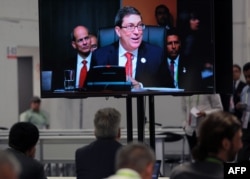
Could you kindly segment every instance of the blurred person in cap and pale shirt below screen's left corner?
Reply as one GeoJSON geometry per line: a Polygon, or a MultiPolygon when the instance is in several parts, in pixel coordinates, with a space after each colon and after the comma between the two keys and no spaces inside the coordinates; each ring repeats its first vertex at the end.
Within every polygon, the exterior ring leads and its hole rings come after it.
{"type": "Polygon", "coordinates": [[[38,127],[38,129],[48,129],[48,115],[40,108],[41,99],[37,96],[34,96],[30,100],[30,109],[20,114],[20,122],[30,122],[38,127]]]}

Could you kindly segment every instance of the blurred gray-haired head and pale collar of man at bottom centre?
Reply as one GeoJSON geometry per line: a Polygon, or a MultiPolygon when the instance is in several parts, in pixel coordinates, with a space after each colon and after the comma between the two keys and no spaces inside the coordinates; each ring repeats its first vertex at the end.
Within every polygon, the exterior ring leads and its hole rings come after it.
{"type": "Polygon", "coordinates": [[[143,143],[129,143],[123,146],[116,155],[116,174],[128,174],[134,178],[152,179],[155,155],[152,149],[143,143]]]}

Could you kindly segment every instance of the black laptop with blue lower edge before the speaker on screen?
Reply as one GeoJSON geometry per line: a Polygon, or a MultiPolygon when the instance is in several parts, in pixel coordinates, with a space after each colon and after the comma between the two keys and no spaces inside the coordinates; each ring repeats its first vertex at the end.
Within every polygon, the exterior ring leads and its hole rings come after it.
{"type": "Polygon", "coordinates": [[[130,91],[131,82],[126,81],[125,67],[94,66],[87,76],[88,91],[130,91]]]}

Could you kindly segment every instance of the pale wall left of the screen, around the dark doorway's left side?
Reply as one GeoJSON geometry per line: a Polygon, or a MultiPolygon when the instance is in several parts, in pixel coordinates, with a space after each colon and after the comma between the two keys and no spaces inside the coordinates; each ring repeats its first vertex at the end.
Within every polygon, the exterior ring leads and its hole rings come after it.
{"type": "Polygon", "coordinates": [[[17,61],[7,59],[7,47],[38,47],[37,7],[33,0],[1,0],[0,126],[9,127],[18,117],[17,61]]]}

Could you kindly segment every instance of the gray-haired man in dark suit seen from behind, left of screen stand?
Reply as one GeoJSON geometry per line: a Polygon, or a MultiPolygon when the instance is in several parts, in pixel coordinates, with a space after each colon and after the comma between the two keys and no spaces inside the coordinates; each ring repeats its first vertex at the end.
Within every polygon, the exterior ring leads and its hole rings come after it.
{"type": "Polygon", "coordinates": [[[103,108],[94,118],[96,141],[76,150],[77,179],[100,179],[115,172],[115,154],[122,146],[120,138],[121,115],[114,108],[103,108]]]}

